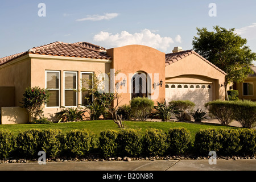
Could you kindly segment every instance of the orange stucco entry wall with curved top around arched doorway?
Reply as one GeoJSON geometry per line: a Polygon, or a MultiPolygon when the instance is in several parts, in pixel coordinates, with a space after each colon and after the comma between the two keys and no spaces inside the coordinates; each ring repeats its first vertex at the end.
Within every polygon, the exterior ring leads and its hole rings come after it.
{"type": "MultiPolygon", "coordinates": [[[[163,81],[163,86],[158,86],[154,90],[154,87],[151,85],[151,93],[150,97],[152,100],[163,102],[165,98],[165,53],[160,52],[154,48],[141,46],[141,45],[130,45],[118,48],[108,49],[107,53],[109,56],[113,57],[112,68],[115,71],[120,71],[120,73],[126,76],[126,86],[122,89],[121,101],[120,105],[129,104],[131,100],[131,77],[137,72],[143,72],[148,74],[152,74],[151,84],[154,82],[157,84],[160,80],[163,81]],[[156,75],[158,75],[158,79],[156,75]],[[154,99],[155,98],[155,99],[154,99]]],[[[115,84],[117,82],[121,82],[123,78],[120,80],[115,80],[115,84]]]]}

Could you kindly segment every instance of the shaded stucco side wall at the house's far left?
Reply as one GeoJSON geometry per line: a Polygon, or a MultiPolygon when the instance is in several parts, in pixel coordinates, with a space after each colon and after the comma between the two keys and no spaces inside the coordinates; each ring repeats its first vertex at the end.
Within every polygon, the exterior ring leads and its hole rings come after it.
{"type": "MultiPolygon", "coordinates": [[[[22,101],[23,93],[31,83],[30,68],[31,64],[28,55],[1,65],[0,67],[0,86],[15,87],[15,103],[12,106],[21,106],[20,102],[22,101]]],[[[5,105],[11,106],[10,103],[6,103],[5,105]]]]}

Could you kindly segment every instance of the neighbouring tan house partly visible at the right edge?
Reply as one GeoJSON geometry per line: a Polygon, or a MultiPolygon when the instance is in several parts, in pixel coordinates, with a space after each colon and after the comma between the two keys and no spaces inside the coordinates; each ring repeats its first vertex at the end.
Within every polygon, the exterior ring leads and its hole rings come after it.
{"type": "Polygon", "coordinates": [[[250,68],[253,74],[248,75],[241,83],[234,83],[233,87],[238,90],[240,99],[256,101],[256,67],[251,65],[250,68]]]}

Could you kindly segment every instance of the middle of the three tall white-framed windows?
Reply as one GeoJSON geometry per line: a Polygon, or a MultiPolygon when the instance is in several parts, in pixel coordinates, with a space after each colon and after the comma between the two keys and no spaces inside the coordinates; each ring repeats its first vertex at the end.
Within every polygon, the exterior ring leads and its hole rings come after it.
{"type": "Polygon", "coordinates": [[[64,72],[64,106],[77,106],[77,72],[64,72]]]}

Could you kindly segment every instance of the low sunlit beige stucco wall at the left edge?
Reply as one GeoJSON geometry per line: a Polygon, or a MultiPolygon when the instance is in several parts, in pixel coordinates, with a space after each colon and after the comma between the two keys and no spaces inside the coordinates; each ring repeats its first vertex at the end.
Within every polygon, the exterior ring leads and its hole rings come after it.
{"type": "Polygon", "coordinates": [[[1,125],[28,122],[27,110],[22,107],[1,107],[1,125]]]}

